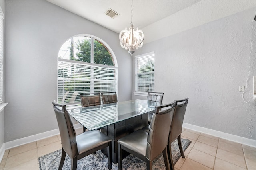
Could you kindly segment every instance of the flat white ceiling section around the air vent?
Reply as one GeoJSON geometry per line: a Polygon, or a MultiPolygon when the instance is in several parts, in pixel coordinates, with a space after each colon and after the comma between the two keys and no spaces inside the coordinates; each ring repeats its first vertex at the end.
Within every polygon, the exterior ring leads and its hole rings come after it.
{"type": "MultiPolygon", "coordinates": [[[[98,23],[116,33],[131,23],[131,0],[47,0],[78,16],[98,23]],[[119,15],[111,18],[106,11],[111,8],[119,15]]],[[[200,0],[134,0],[132,21],[134,27],[144,27],[179,12],[200,0]]]]}

